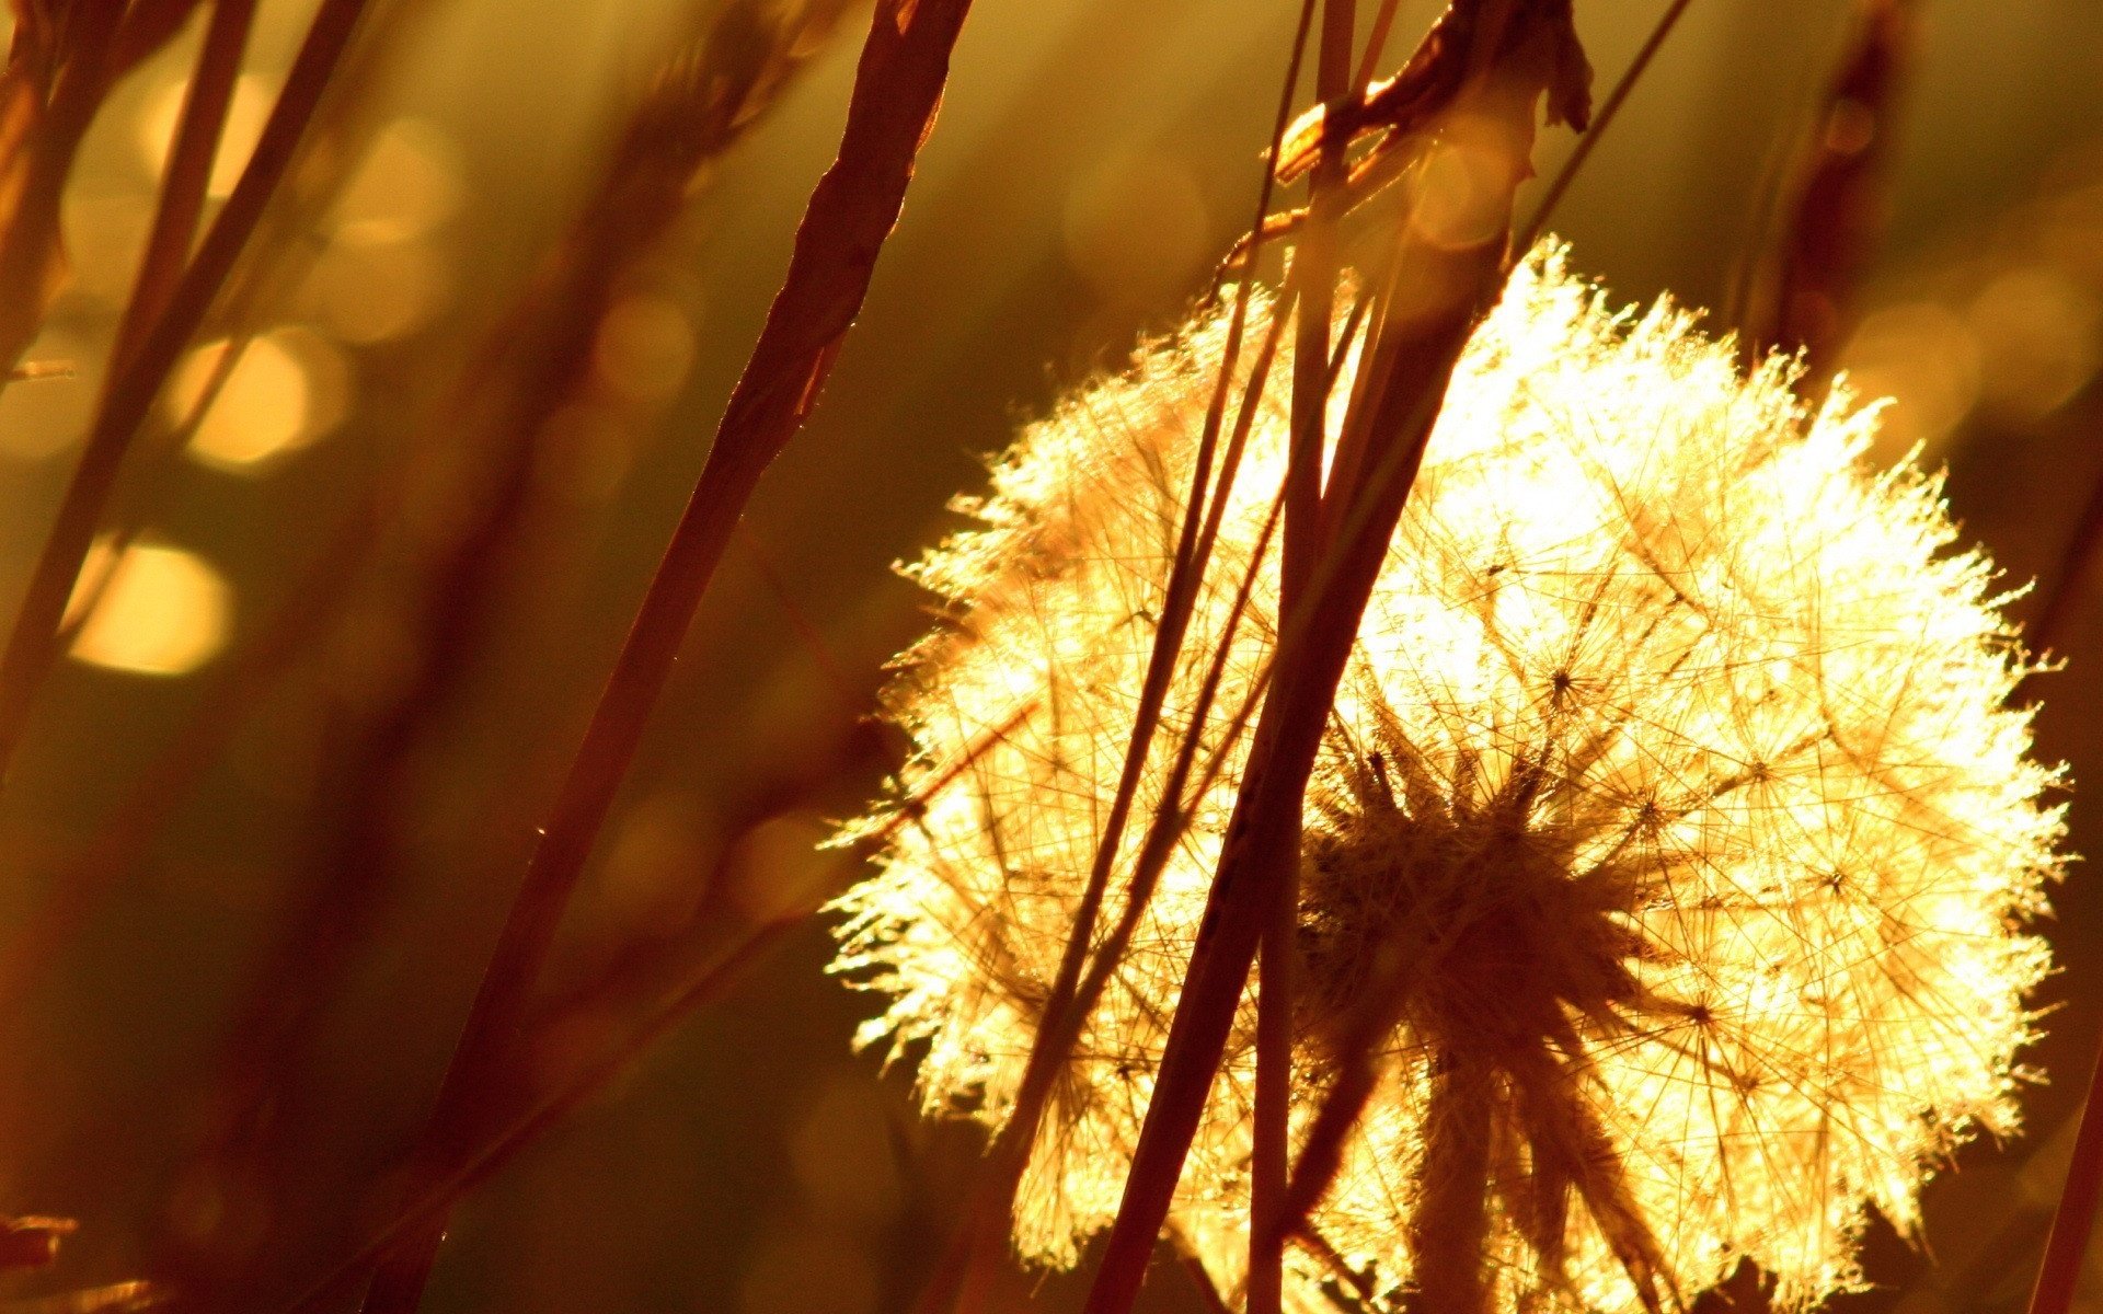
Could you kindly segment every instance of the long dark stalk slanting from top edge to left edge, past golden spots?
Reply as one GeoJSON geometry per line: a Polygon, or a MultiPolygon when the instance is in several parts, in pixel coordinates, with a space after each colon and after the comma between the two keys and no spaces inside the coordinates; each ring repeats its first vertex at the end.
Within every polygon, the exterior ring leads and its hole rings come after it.
{"type": "Polygon", "coordinates": [[[15,616],[6,652],[0,654],[0,782],[6,780],[15,748],[21,744],[38,687],[57,660],[57,631],[65,601],[80,576],[80,563],[132,435],[154,406],[168,370],[204,322],[233,261],[246,248],[366,4],[368,0],[322,0],[233,193],[221,206],[154,328],[139,341],[132,357],[109,376],[86,448],[29,574],[29,589],[15,616]]]}

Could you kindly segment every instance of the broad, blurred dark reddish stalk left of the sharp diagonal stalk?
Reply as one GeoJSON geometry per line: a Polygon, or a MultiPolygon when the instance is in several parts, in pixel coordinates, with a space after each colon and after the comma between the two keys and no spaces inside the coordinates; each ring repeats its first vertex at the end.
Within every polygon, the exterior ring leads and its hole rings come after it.
{"type": "MultiPolygon", "coordinates": [[[[688,210],[696,174],[763,118],[845,8],[848,0],[789,11],[744,2],[719,13],[702,46],[675,59],[644,99],[591,202],[431,423],[431,442],[461,444],[477,458],[471,486],[452,498],[469,511],[418,561],[406,589],[400,629],[416,654],[410,675],[379,706],[347,717],[318,877],[233,1009],[221,1043],[221,1089],[208,1102],[215,1129],[198,1158],[248,1182],[269,1200],[269,1217],[297,1186],[275,1179],[271,1165],[303,1112],[292,1087],[313,1024],[400,883],[400,835],[421,748],[450,723],[488,650],[524,540],[547,519],[536,471],[549,418],[587,387],[608,307],[688,210]]],[[[240,1259],[210,1249],[181,1255],[189,1299],[215,1303],[240,1276],[231,1272],[240,1259]]]]}

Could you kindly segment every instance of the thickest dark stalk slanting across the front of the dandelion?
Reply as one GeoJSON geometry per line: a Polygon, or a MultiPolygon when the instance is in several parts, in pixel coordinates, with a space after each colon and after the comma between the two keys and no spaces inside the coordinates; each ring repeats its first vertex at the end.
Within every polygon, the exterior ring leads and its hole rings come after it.
{"type": "Polygon", "coordinates": [[[1363,387],[1346,414],[1323,494],[1321,568],[1306,610],[1287,614],[1281,627],[1274,679],[1258,715],[1125,1198],[1089,1293],[1089,1314],[1127,1312],[1144,1280],[1270,919],[1274,881],[1298,858],[1308,776],[1359,618],[1453,364],[1502,288],[1510,198],[1531,158],[1537,101],[1552,93],[1554,114],[1584,116],[1584,93],[1571,84],[1581,76],[1581,55],[1567,4],[1457,4],[1434,36],[1441,38],[1438,57],[1459,61],[1445,109],[1466,109],[1499,132],[1504,223],[1497,240],[1474,244],[1430,242],[1413,229],[1401,235],[1394,269],[1422,280],[1432,292],[1430,305],[1384,303],[1367,349],[1363,387]]]}

